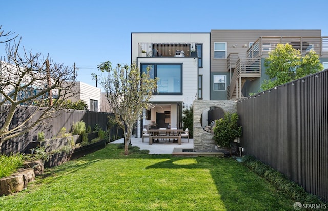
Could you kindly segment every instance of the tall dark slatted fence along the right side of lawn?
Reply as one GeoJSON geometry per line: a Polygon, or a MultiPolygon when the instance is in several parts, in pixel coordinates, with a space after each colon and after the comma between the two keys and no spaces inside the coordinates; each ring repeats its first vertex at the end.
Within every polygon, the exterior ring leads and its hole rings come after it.
{"type": "Polygon", "coordinates": [[[238,101],[244,153],[328,201],[328,71],[238,101]]]}

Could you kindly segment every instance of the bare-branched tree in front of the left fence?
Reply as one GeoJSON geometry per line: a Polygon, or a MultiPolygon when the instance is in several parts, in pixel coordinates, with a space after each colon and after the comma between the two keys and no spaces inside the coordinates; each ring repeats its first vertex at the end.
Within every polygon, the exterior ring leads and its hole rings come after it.
{"type": "Polygon", "coordinates": [[[23,135],[51,118],[61,109],[60,103],[75,94],[72,87],[76,84],[74,68],[24,48],[20,53],[20,41],[10,44],[5,45],[6,56],[0,57],[0,107],[2,116],[5,115],[0,124],[0,147],[6,140],[23,135]],[[17,110],[27,108],[30,108],[28,118],[11,125],[17,110]]]}

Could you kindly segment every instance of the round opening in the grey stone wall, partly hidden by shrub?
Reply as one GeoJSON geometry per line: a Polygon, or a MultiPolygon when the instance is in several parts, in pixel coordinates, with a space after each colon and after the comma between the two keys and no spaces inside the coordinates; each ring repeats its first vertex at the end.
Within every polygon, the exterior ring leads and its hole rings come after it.
{"type": "Polygon", "coordinates": [[[208,133],[213,133],[213,128],[215,126],[215,120],[224,117],[224,111],[222,108],[217,106],[209,107],[203,110],[200,116],[200,124],[204,131],[208,133]]]}

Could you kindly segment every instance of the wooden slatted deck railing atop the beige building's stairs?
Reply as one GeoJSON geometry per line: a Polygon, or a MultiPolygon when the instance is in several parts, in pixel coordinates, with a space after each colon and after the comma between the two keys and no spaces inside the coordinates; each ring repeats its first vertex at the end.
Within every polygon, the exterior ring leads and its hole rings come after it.
{"type": "Polygon", "coordinates": [[[320,56],[328,56],[328,37],[260,37],[247,50],[247,58],[261,57],[274,50],[278,43],[290,44],[301,54],[314,50],[320,56]]]}

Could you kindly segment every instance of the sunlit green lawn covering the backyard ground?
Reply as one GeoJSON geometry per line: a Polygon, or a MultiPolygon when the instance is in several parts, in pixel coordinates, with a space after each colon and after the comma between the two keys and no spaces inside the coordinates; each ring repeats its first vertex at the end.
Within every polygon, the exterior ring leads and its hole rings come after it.
{"type": "Polygon", "coordinates": [[[231,158],[148,155],[117,144],[46,169],[1,210],[294,210],[295,201],[231,158]]]}

